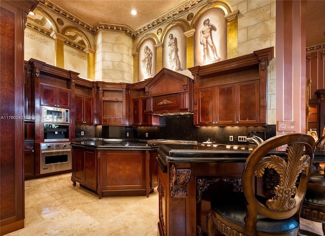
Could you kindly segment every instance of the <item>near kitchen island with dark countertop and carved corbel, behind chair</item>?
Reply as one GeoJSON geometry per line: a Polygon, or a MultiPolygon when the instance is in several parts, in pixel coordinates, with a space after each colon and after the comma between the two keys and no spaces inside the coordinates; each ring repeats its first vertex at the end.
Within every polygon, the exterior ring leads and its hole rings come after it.
{"type": "MultiPolygon", "coordinates": [[[[207,235],[206,217],[212,194],[241,191],[245,161],[255,145],[174,145],[158,149],[160,236],[207,235]]],[[[272,151],[281,157],[285,151],[272,151]]],[[[314,153],[314,162],[325,162],[325,153],[314,153]]],[[[270,177],[272,173],[269,173],[270,177]]],[[[272,181],[276,181],[271,179],[272,181]]],[[[256,192],[266,189],[258,182],[256,192]]]]}

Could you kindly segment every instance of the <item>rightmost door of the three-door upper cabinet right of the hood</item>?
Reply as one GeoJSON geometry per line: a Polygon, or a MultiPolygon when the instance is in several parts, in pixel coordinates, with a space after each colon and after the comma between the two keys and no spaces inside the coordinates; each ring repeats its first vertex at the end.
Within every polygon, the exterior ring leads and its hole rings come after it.
{"type": "Polygon", "coordinates": [[[236,85],[236,124],[259,123],[259,81],[236,85]]]}

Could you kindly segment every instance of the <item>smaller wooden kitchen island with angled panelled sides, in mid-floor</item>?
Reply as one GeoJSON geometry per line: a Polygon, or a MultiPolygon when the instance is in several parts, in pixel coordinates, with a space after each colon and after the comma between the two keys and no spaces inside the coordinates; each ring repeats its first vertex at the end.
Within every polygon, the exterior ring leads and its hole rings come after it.
{"type": "Polygon", "coordinates": [[[157,149],[145,142],[71,143],[73,185],[103,196],[146,195],[157,186],[157,149]]]}

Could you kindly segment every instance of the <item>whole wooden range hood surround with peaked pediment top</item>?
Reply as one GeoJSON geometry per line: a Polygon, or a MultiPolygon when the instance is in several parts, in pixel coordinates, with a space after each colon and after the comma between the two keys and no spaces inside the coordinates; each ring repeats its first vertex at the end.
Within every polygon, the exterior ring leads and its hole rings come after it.
{"type": "Polygon", "coordinates": [[[193,80],[163,68],[146,85],[146,113],[178,115],[193,113],[193,80]]]}

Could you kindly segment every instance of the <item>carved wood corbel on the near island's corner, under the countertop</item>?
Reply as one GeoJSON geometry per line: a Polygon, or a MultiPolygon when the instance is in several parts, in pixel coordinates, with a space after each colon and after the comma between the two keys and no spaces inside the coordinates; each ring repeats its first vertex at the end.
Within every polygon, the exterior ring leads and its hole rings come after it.
{"type": "Polygon", "coordinates": [[[175,163],[170,168],[169,187],[171,196],[183,199],[187,196],[186,186],[191,178],[190,166],[188,168],[176,168],[175,163]]]}

